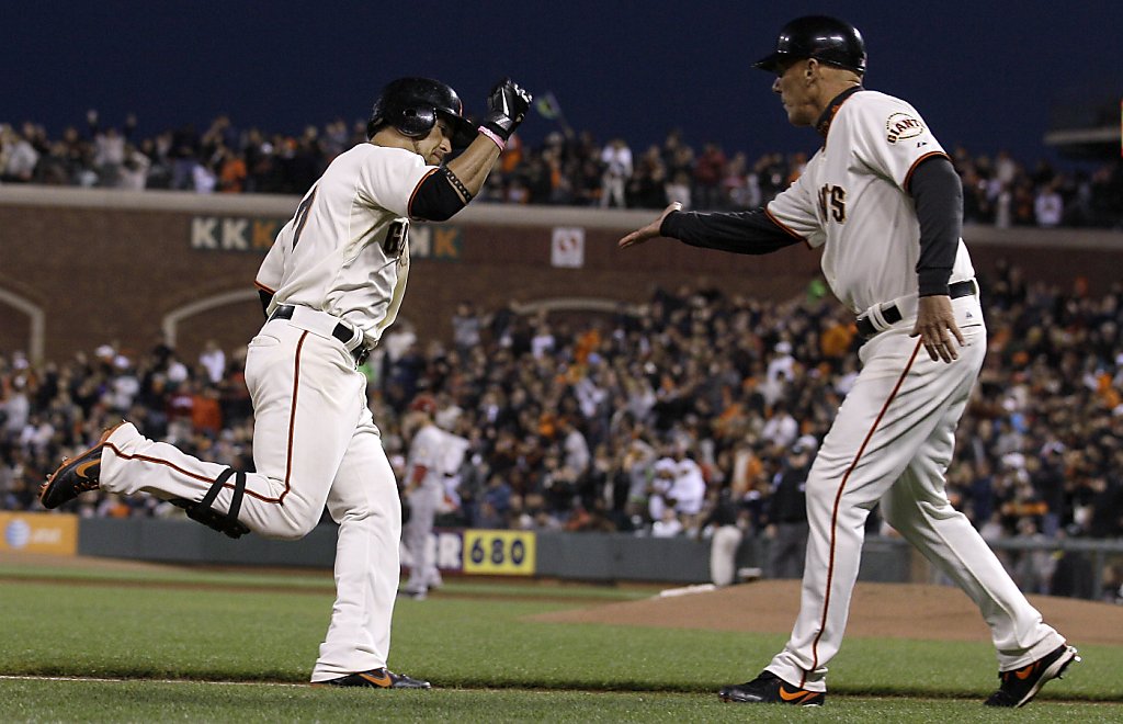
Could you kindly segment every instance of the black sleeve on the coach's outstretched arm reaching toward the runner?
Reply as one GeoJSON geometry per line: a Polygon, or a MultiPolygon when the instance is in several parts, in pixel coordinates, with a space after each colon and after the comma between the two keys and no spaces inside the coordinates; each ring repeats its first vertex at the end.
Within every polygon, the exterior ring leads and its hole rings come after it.
{"type": "Polygon", "coordinates": [[[675,211],[659,233],[683,244],[733,254],[768,254],[800,239],[776,224],[764,209],[712,212],[675,211]]]}

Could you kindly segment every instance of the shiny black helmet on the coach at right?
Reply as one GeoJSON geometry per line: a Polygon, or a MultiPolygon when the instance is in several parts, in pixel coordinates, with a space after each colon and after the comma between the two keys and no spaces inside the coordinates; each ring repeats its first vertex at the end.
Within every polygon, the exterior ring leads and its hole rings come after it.
{"type": "Polygon", "coordinates": [[[866,73],[866,43],[846,20],[811,15],[792,20],[779,31],[776,49],[752,64],[775,73],[783,61],[815,58],[822,63],[866,73]]]}

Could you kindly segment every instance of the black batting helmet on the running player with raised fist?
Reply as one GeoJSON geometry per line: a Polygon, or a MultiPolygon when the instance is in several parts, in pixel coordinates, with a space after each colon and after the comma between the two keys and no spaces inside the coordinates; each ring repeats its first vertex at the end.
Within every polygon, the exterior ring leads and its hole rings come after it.
{"type": "Polygon", "coordinates": [[[464,118],[464,103],[448,85],[428,77],[400,77],[382,89],[366,125],[367,138],[384,126],[410,138],[424,138],[442,117],[451,126],[453,147],[464,148],[476,137],[475,127],[464,118]]]}

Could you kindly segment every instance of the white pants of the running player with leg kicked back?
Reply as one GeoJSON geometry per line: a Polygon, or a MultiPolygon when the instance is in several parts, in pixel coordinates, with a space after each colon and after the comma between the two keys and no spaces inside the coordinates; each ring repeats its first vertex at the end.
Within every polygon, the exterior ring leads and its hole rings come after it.
{"type": "MultiPolygon", "coordinates": [[[[238,520],[261,535],[295,540],[327,504],[339,523],[337,598],[312,681],[386,666],[402,511],[366,378],[339,340],[275,320],[249,343],[246,384],[256,473],[246,476],[238,520]]],[[[225,469],[124,424],[107,440],[101,488],[198,502],[225,469]]],[[[229,510],[231,488],[219,493],[216,511],[229,510]]]]}

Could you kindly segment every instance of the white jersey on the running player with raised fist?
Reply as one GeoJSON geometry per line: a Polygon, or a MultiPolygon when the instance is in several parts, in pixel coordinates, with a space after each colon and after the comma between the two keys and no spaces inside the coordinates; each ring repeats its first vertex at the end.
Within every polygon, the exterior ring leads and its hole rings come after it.
{"type": "Polygon", "coordinates": [[[345,319],[373,346],[398,317],[409,276],[409,204],[435,166],[403,148],[340,154],[281,229],[257,273],[268,312],[299,304],[345,319]]]}

